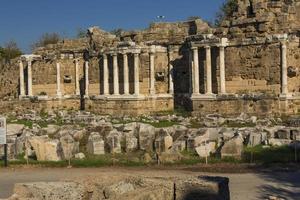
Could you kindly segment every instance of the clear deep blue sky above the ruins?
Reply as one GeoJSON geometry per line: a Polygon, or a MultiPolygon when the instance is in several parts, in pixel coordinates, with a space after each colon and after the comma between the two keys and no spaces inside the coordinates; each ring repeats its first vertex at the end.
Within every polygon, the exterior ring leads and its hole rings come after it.
{"type": "Polygon", "coordinates": [[[182,21],[199,16],[212,21],[224,0],[1,0],[0,46],[14,40],[24,53],[43,33],[76,36],[99,26],[111,31],[144,29],[157,16],[182,21]]]}

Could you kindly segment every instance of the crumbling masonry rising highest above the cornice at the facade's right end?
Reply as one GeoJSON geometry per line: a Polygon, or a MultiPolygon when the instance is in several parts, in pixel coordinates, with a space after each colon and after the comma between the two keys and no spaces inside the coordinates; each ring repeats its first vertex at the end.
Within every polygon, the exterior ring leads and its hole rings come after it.
{"type": "Polygon", "coordinates": [[[221,23],[218,34],[230,38],[266,37],[300,28],[299,0],[238,0],[237,10],[221,23]]]}

